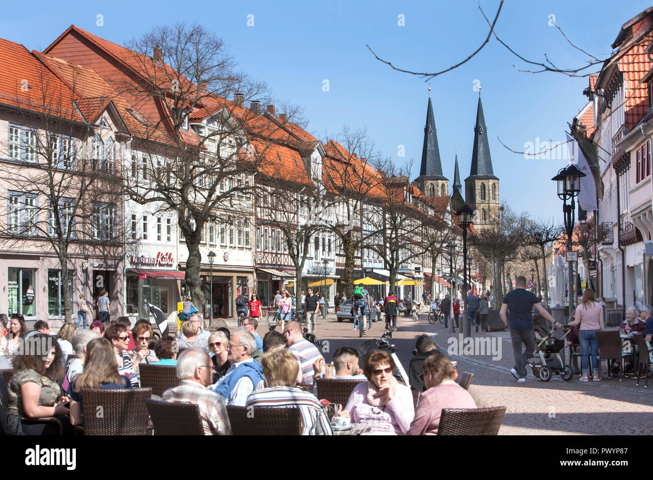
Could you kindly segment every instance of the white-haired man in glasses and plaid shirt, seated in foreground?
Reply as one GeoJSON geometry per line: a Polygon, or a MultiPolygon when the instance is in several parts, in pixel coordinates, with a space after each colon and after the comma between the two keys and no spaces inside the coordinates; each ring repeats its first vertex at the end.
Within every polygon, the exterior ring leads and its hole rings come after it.
{"type": "Polygon", "coordinates": [[[191,348],[177,359],[179,387],[167,389],[164,402],[195,404],[200,409],[205,435],[231,435],[225,400],[206,388],[211,385],[213,365],[203,348],[191,348]]]}

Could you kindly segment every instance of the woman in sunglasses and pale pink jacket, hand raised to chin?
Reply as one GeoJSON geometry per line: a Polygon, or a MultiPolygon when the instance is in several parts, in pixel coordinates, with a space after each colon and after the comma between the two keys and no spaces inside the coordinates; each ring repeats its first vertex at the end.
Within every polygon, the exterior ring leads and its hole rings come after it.
{"type": "Polygon", "coordinates": [[[406,434],[415,416],[413,394],[392,375],[394,360],[385,350],[374,350],[365,357],[363,371],[368,381],[361,382],[336,416],[351,417],[351,423],[370,428],[370,435],[406,434]]]}

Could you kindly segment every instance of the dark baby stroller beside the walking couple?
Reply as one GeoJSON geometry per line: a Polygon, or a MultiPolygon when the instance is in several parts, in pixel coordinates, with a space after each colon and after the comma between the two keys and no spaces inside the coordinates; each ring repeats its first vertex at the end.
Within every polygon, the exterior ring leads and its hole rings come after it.
{"type": "Polygon", "coordinates": [[[549,332],[547,321],[542,315],[533,316],[533,329],[535,351],[526,362],[533,369],[533,375],[541,381],[549,381],[554,374],[560,375],[564,381],[571,380],[573,369],[564,364],[563,357],[560,355],[560,350],[567,345],[567,335],[570,330],[563,335],[557,333],[558,330],[549,332]]]}

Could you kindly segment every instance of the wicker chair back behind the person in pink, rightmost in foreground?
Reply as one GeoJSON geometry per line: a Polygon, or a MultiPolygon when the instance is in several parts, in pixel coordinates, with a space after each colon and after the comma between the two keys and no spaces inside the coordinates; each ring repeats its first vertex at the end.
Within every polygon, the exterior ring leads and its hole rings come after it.
{"type": "Polygon", "coordinates": [[[438,435],[496,435],[505,407],[443,408],[438,435]]]}

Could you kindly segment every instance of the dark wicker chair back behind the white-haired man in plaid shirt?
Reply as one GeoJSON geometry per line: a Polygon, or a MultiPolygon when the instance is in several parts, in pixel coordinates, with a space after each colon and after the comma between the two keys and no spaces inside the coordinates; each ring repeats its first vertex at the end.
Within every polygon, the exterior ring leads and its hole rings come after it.
{"type": "Polygon", "coordinates": [[[204,435],[200,408],[196,404],[177,404],[145,400],[157,435],[204,435]]]}

